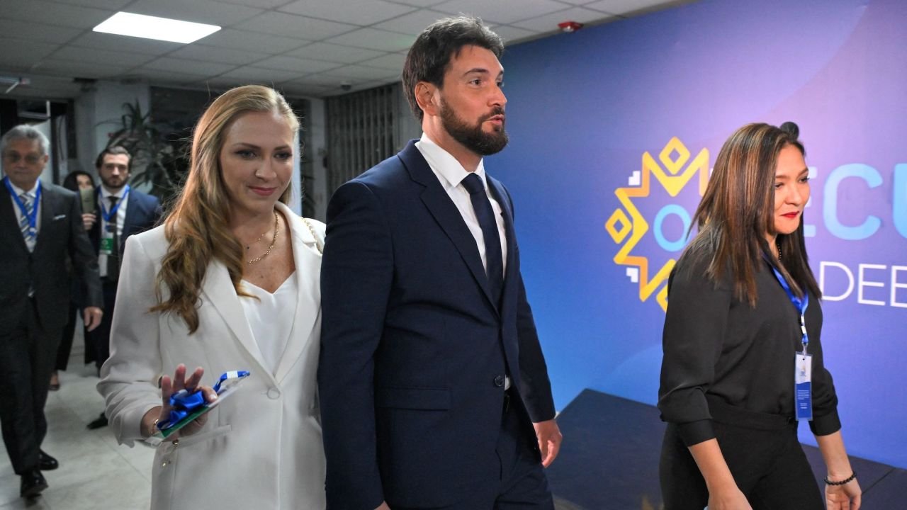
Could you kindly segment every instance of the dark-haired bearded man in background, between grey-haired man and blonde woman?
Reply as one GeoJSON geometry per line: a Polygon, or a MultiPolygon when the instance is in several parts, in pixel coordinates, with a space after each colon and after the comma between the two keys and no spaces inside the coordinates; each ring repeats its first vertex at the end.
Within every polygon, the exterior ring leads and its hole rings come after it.
{"type": "MultiPolygon", "coordinates": [[[[161,201],[157,197],[133,190],[128,184],[132,155],[120,146],[112,146],[98,154],[94,166],[101,178],[96,196],[96,220],[90,237],[98,254],[106,313],[101,326],[85,338],[85,362],[94,361],[98,370],[110,357],[110,336],[116,286],[120,277],[120,257],[126,239],[132,234],[151,229],[161,217],[161,201]]],[[[107,426],[101,413],[88,428],[107,426]]]]}

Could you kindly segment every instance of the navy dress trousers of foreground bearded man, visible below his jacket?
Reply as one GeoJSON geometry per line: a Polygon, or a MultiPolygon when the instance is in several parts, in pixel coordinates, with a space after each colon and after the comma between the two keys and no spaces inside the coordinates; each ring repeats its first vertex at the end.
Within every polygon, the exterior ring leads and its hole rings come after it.
{"type": "MultiPolygon", "coordinates": [[[[509,393],[509,392],[508,392],[509,393]]],[[[495,451],[500,462],[497,479],[470,487],[463,500],[454,505],[406,508],[390,505],[391,510],[554,510],[548,477],[541,466],[538,441],[525,427],[528,414],[519,397],[504,399],[501,435],[495,451]]],[[[701,510],[701,509],[700,509],[701,510]]]]}

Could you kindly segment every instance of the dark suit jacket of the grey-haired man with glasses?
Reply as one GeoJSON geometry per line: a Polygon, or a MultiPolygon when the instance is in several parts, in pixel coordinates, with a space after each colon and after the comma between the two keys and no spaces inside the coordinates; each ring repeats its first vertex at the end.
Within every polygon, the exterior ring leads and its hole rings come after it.
{"type": "MultiPolygon", "coordinates": [[[[0,330],[11,331],[24,316],[28,288],[34,288],[34,302],[45,331],[60,330],[69,315],[73,289],[72,275],[66,260],[85,282],[85,307],[103,307],[98,262],[82,223],[78,195],[54,184],[41,184],[41,226],[34,245],[28,252],[15,203],[5,186],[0,186],[0,330]]],[[[49,358],[53,359],[54,356],[49,358]]]]}

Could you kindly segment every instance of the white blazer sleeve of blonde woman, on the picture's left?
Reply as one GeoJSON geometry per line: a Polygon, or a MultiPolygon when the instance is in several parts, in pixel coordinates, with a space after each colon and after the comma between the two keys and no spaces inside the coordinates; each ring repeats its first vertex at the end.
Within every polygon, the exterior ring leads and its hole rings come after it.
{"type": "Polygon", "coordinates": [[[156,276],[141,242],[130,238],[117,284],[117,301],[122,305],[113,313],[111,355],[101,368],[98,383],[113,435],[129,446],[141,440],[141,417],[161,405],[157,387],[162,367],[159,315],[148,311],[157,304],[156,276]]]}

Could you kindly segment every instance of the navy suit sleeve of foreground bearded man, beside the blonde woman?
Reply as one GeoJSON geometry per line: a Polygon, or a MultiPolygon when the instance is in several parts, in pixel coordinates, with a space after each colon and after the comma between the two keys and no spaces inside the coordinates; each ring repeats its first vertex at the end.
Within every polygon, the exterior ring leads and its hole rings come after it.
{"type": "Polygon", "coordinates": [[[390,231],[375,194],[341,186],[327,207],[321,265],[318,392],[327,508],[372,509],[384,501],[375,444],[375,350],[394,274],[390,231]]]}

